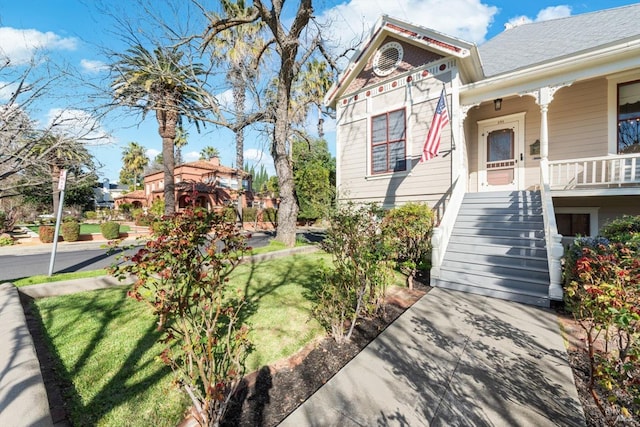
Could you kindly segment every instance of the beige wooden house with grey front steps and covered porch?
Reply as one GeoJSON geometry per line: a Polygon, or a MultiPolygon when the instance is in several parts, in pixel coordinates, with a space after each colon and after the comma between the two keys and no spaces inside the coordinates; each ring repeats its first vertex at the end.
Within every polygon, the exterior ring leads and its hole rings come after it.
{"type": "Polygon", "coordinates": [[[339,200],[437,213],[432,285],[548,306],[561,235],[640,214],[640,4],[476,46],[383,16],[326,97],[339,200]],[[449,122],[420,162],[444,88],[449,122]]]}

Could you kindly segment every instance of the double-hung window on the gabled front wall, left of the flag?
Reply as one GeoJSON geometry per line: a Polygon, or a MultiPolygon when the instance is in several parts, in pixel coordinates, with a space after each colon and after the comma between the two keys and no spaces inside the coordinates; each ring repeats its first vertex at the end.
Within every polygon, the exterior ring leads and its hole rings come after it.
{"type": "Polygon", "coordinates": [[[407,126],[405,109],[371,118],[371,173],[381,174],[407,169],[407,126]]]}

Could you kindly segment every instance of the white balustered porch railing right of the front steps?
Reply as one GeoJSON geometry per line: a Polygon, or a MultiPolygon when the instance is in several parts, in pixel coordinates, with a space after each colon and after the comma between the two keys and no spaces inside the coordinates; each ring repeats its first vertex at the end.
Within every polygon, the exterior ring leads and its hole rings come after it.
{"type": "Polygon", "coordinates": [[[640,185],[640,153],[549,161],[552,190],[640,185]]]}

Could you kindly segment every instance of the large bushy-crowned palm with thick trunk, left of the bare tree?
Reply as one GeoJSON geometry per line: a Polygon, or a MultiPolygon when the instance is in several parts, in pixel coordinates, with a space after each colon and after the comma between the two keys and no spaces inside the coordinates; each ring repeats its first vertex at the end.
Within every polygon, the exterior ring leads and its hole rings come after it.
{"type": "Polygon", "coordinates": [[[164,166],[165,214],[175,213],[175,154],[177,127],[183,116],[196,126],[206,103],[199,64],[183,63],[183,53],[177,47],[157,46],[149,51],[141,45],[117,54],[111,69],[115,77],[111,83],[115,100],[121,105],[142,110],[143,118],[155,112],[158,133],[162,138],[164,166]],[[195,117],[195,118],[194,118],[195,117]]]}

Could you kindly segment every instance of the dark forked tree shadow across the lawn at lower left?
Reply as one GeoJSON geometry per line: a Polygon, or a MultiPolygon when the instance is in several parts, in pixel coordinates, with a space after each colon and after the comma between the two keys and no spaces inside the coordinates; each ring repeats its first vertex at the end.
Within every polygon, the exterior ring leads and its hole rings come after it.
{"type": "MultiPolygon", "coordinates": [[[[36,350],[41,362],[43,377],[46,379],[45,386],[49,395],[49,406],[54,423],[66,418],[76,425],[96,425],[114,408],[126,403],[135,396],[146,393],[154,384],[167,375],[171,375],[171,370],[167,366],[156,362],[153,357],[149,358],[147,354],[160,337],[160,332],[156,330],[155,324],[150,322],[137,341],[131,345],[131,350],[126,359],[118,364],[117,372],[113,373],[111,379],[93,397],[87,401],[86,397],[83,398],[76,389],[73,382],[75,376],[81,370],[87,368],[91,359],[98,357],[97,348],[107,344],[108,341],[105,340],[113,338],[113,336],[109,336],[109,329],[114,320],[123,316],[122,306],[127,296],[125,289],[120,290],[120,292],[121,295],[115,301],[105,303],[104,299],[101,298],[102,293],[94,291],[89,303],[82,307],[82,310],[78,312],[75,318],[70,319],[64,325],[65,329],[74,328],[74,324],[81,322],[83,316],[88,313],[93,318],[99,319],[99,326],[92,336],[86,337],[87,339],[84,342],[77,343],[85,347],[77,361],[68,369],[62,363],[60,353],[54,345],[55,337],[49,335],[49,330],[38,307],[33,300],[23,296],[25,298],[23,303],[25,312],[28,311],[29,317],[32,319],[29,329],[32,335],[36,335],[34,336],[34,341],[36,342],[36,350]],[[37,337],[38,335],[39,337],[37,337]],[[140,365],[140,362],[145,358],[149,360],[140,365]],[[151,363],[157,363],[157,368],[147,369],[149,371],[148,374],[133,382],[134,375],[151,363]],[[65,407],[67,408],[66,410],[65,407]]],[[[104,363],[109,363],[109,361],[104,363]]],[[[149,422],[149,420],[146,420],[146,422],[149,422]]]]}

